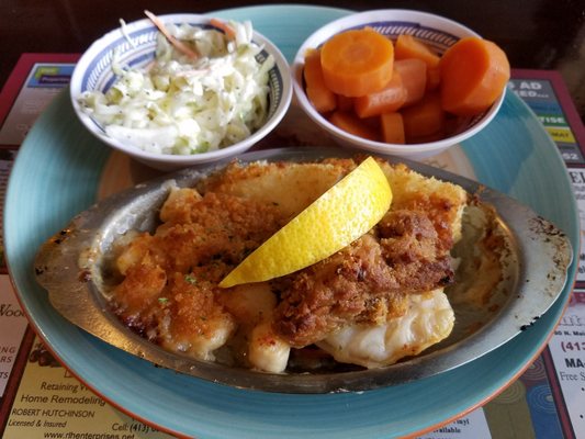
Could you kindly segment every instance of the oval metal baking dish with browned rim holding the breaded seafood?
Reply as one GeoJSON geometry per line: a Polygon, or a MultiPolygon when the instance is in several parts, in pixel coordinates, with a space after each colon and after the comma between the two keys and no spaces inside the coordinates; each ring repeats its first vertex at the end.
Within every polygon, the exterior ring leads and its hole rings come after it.
{"type": "MultiPolygon", "coordinates": [[[[338,148],[285,148],[248,153],[239,160],[303,162],[353,155],[355,151],[338,148]]],[[[184,169],[138,184],[78,214],[40,249],[35,260],[37,281],[67,319],[126,352],[212,382],[282,393],[359,392],[435,375],[492,351],[547,312],[564,288],[573,258],[562,230],[508,195],[473,180],[419,162],[379,157],[457,183],[482,205],[493,206],[494,222],[505,238],[507,254],[502,261],[502,280],[491,294],[493,302],[471,311],[466,304],[452,303],[455,326],[451,335],[421,354],[396,364],[370,370],[263,373],[166,351],[117,319],[100,281],[106,277],[108,255],[114,240],[131,229],[154,230],[159,224],[159,207],[173,185],[192,187],[227,161],[184,169]]],[[[464,284],[473,286],[473,282],[471,279],[464,284]]],[[[461,293],[464,291],[452,291],[451,295],[461,293]]]]}

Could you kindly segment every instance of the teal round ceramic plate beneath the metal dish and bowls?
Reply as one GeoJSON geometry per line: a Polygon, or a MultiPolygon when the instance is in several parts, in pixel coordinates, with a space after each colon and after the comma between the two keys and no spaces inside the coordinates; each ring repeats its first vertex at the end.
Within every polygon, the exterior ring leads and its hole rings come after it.
{"type": "MultiPolygon", "coordinates": [[[[346,13],[275,5],[216,15],[252,20],[291,60],[316,27],[346,13]]],[[[463,151],[480,181],[529,204],[563,229],[578,259],[577,209],[565,166],[519,98],[507,93],[496,119],[466,140],[463,151]]],[[[22,145],[9,182],[9,269],[32,325],[55,356],[104,399],[167,431],[200,439],[372,439],[427,430],[484,403],[517,378],[538,356],[569,301],[575,262],[559,301],[511,341],[440,375],[363,393],[250,392],[155,368],[65,320],[32,272],[40,245],[95,201],[109,155],[77,121],[67,95],[58,95],[22,145]]]]}

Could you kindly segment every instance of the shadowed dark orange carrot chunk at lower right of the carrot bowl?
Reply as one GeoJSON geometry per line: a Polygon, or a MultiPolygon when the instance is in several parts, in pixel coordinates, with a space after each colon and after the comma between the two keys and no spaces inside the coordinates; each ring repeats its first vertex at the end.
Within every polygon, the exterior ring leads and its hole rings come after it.
{"type": "Polygon", "coordinates": [[[445,111],[438,92],[427,93],[423,100],[402,111],[406,142],[412,138],[429,136],[442,131],[445,111]]]}

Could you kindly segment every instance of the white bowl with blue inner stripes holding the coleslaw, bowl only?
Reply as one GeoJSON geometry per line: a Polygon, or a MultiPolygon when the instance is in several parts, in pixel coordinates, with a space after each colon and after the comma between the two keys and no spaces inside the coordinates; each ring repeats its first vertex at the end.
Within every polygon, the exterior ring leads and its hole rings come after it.
{"type": "MultiPolygon", "coordinates": [[[[210,18],[198,14],[170,14],[159,15],[166,23],[210,26],[210,18]]],[[[83,125],[99,139],[111,147],[119,149],[136,160],[160,170],[172,170],[189,167],[192,165],[211,162],[236,156],[252,147],[257,142],[269,134],[282,120],[292,99],[292,83],[289,64],[279,48],[261,34],[255,32],[252,41],[263,50],[258,57],[267,57],[269,54],[274,57],[274,67],[269,72],[269,112],[266,123],[248,138],[224,147],[218,150],[201,153],[194,155],[168,155],[147,153],[137,147],[108,136],[102,126],[81,111],[79,97],[87,90],[99,90],[105,92],[114,82],[115,76],[112,72],[112,55],[119,52],[120,59],[128,66],[140,68],[147,66],[155,57],[156,37],[158,30],[150,20],[144,19],[115,29],[95,41],[79,59],[70,82],[70,97],[74,109],[83,125]],[[126,35],[124,35],[124,33],[126,35]],[[128,38],[134,43],[131,44],[128,38]]]]}

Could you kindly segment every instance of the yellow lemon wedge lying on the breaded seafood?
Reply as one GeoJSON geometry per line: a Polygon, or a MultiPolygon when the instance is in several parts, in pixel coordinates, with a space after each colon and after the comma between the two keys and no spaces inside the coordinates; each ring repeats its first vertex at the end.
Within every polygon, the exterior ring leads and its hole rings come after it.
{"type": "Polygon", "coordinates": [[[370,230],[391,202],[384,172],[368,157],[248,255],[220,286],[262,282],[312,266],[370,230]]]}

